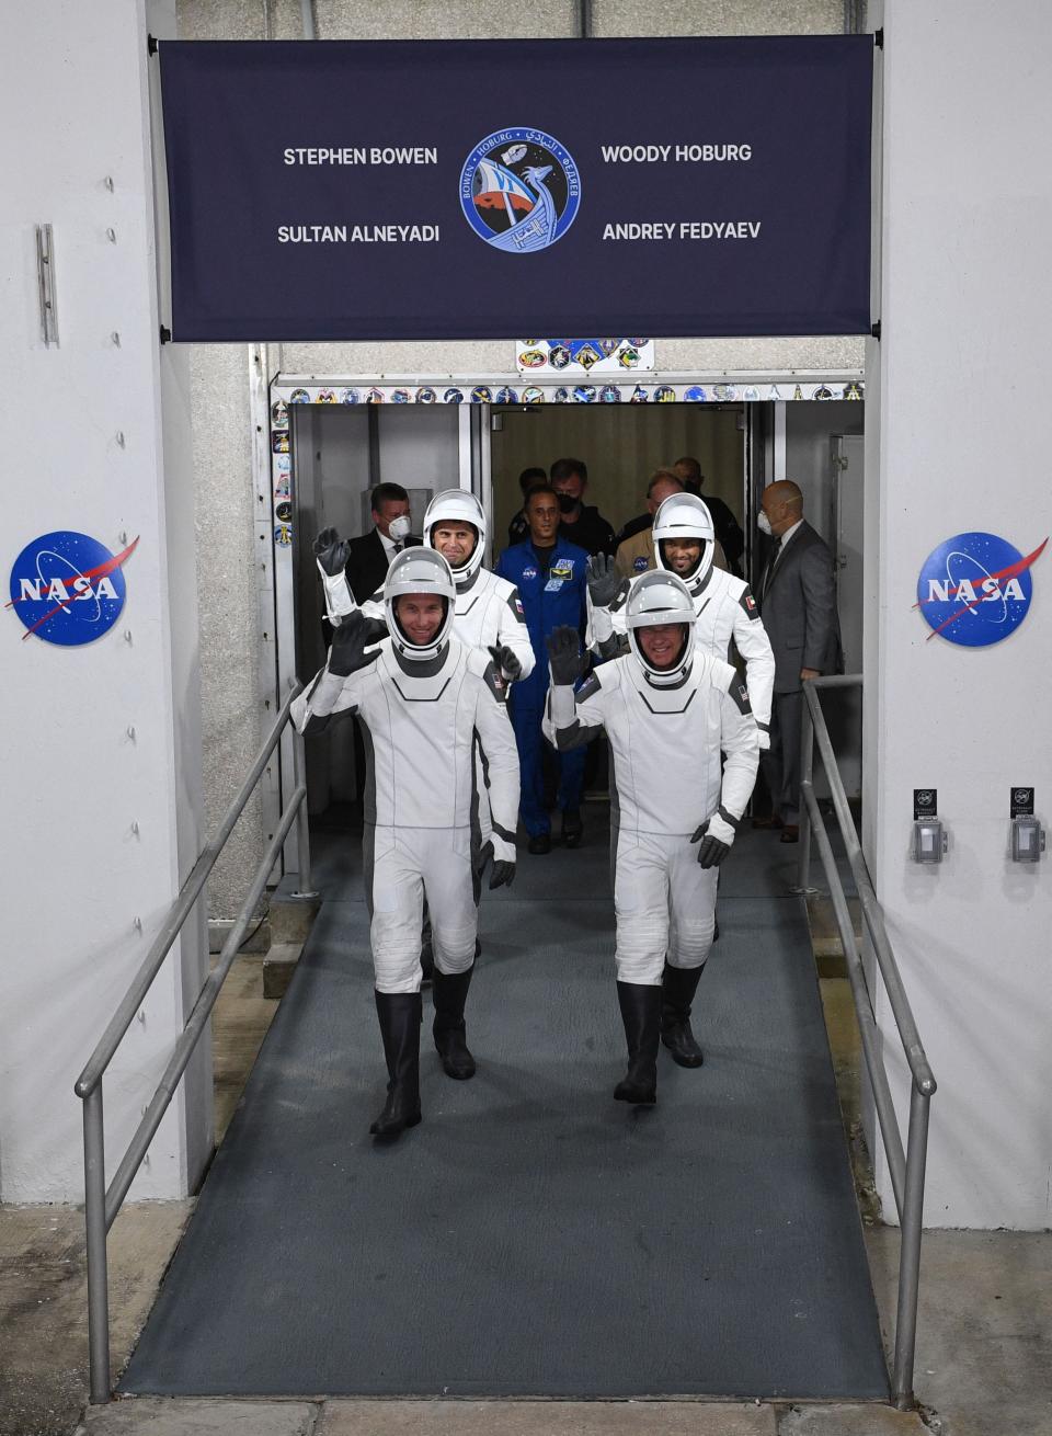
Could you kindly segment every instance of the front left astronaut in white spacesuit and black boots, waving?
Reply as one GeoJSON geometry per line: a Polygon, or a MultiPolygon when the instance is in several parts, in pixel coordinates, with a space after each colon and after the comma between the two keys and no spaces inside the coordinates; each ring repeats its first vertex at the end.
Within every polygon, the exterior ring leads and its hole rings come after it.
{"type": "Polygon", "coordinates": [[[349,612],[329,662],[293,704],[300,732],[357,714],[367,747],[365,880],[388,1101],[369,1129],[396,1136],[421,1120],[421,916],[435,945],[435,1047],[451,1077],[475,1061],[464,1004],[475,962],[478,870],[472,866],[475,745],[489,780],[491,887],[515,875],[518,751],[507,682],[485,651],[452,636],[455,586],[431,549],[395,556],[383,586],[388,638],[349,612]]]}

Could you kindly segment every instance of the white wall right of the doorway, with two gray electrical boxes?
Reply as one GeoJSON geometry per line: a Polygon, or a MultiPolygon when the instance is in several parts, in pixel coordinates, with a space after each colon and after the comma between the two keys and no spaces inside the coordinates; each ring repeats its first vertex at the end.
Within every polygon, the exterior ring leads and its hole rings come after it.
{"type": "MultiPolygon", "coordinates": [[[[993,648],[927,642],[911,606],[943,538],[979,528],[1029,551],[1052,531],[1033,422],[1052,312],[1052,13],[887,0],[886,45],[867,846],[940,1084],[926,1222],[1036,1229],[1052,1225],[1052,854],[1023,869],[1006,844],[1010,784],[1036,784],[1052,821],[1052,564],[1038,561],[1029,617],[993,648]],[[931,869],[907,857],[913,788],[927,784],[950,833],[931,869]]],[[[904,1116],[887,1004],[881,1022],[904,1116]]]]}

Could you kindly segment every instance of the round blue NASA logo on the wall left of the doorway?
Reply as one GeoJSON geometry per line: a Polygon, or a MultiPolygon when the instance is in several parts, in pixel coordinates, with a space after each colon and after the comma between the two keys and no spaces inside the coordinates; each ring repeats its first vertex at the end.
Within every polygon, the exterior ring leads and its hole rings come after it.
{"type": "Polygon", "coordinates": [[[125,606],[121,569],[138,541],[112,554],[98,538],[56,530],[26,544],[11,567],[7,605],[26,628],[23,642],[34,633],[46,643],[78,648],[108,633],[125,606]]]}

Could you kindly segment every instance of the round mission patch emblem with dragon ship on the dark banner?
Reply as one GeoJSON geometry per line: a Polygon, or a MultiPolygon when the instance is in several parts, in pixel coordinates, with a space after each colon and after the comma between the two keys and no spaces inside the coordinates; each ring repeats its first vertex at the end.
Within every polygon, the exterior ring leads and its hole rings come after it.
{"type": "Polygon", "coordinates": [[[479,238],[505,254],[535,254],[577,217],[581,177],[570,152],[541,129],[498,129],[461,171],[461,208],[479,238]]]}

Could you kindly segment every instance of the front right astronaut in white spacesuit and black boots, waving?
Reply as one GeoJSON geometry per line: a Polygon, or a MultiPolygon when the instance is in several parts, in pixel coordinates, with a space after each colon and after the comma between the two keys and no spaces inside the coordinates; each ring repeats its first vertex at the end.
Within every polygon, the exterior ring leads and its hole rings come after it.
{"type": "Polygon", "coordinates": [[[565,750],[603,727],[610,744],[617,999],[629,1045],[614,1097],[653,1103],[659,1040],[682,1067],[702,1064],[690,1004],[712,946],[716,869],[756,780],[759,734],[735,669],[695,643],[695,603],[680,579],[642,574],[624,623],[629,652],[578,692],[577,633],[551,635],[544,732],[565,750]]]}

